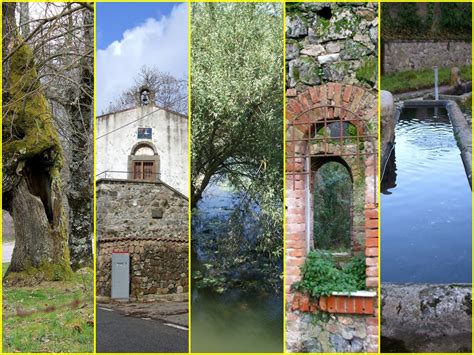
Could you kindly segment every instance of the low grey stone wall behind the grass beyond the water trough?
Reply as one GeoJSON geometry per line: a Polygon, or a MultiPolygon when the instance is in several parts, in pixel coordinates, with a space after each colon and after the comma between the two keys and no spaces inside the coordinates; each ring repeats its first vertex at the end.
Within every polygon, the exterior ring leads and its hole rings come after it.
{"type": "Polygon", "coordinates": [[[471,42],[384,41],[383,73],[471,65],[471,42]]]}

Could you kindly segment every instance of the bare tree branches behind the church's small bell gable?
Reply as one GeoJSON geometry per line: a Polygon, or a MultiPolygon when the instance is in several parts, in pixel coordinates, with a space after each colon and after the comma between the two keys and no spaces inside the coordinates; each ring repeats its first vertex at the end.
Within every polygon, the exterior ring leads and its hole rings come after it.
{"type": "Polygon", "coordinates": [[[137,93],[146,86],[155,92],[155,104],[158,107],[187,115],[188,81],[186,79],[175,78],[170,73],[162,72],[154,66],[142,66],[134,81],[134,84],[112,101],[102,114],[135,107],[137,93]]]}

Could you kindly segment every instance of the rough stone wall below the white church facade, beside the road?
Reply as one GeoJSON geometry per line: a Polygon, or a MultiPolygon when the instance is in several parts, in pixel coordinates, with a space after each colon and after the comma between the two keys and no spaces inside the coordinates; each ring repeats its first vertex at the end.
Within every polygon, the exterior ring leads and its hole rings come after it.
{"type": "Polygon", "coordinates": [[[132,298],[188,289],[188,200],[164,183],[97,181],[97,294],[110,296],[112,252],[130,253],[132,298]]]}

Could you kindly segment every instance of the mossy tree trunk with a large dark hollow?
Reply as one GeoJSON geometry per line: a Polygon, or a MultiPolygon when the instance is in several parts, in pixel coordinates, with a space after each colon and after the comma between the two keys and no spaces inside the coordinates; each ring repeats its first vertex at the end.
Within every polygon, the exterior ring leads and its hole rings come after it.
{"type": "Polygon", "coordinates": [[[33,54],[18,35],[15,4],[4,3],[3,206],[13,217],[15,248],[4,277],[71,277],[67,220],[62,205],[63,151],[36,71],[33,54]]]}

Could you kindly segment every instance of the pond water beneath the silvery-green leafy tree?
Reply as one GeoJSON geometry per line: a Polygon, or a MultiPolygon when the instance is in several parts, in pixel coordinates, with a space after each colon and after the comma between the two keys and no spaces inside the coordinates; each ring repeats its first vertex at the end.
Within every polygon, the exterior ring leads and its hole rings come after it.
{"type": "MultiPolygon", "coordinates": [[[[192,270],[209,262],[206,245],[224,238],[228,219],[239,198],[226,185],[210,186],[192,217],[192,270]]],[[[251,223],[250,223],[251,224],[251,223]]],[[[252,225],[243,226],[252,242],[252,225]]],[[[260,282],[265,282],[261,280],[260,282]]],[[[191,349],[193,352],[282,352],[283,296],[281,293],[192,287],[191,349]]]]}

